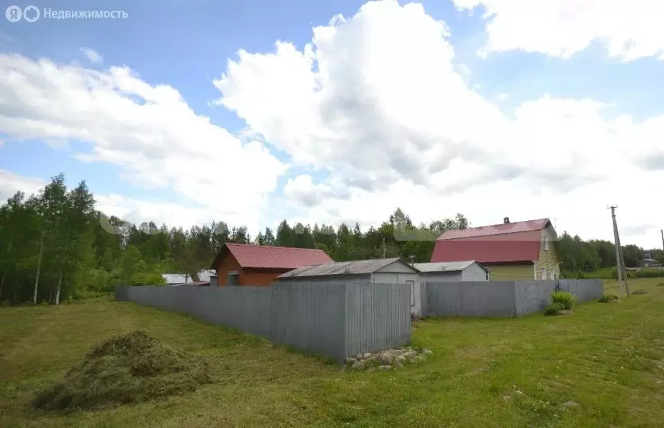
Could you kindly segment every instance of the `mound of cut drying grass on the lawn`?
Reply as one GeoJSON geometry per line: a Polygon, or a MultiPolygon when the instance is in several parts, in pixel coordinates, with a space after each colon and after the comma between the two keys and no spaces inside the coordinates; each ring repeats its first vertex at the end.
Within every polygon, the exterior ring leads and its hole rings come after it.
{"type": "Polygon", "coordinates": [[[39,392],[33,405],[91,409],[194,391],[208,382],[205,361],[134,331],[95,345],[61,381],[39,392]]]}

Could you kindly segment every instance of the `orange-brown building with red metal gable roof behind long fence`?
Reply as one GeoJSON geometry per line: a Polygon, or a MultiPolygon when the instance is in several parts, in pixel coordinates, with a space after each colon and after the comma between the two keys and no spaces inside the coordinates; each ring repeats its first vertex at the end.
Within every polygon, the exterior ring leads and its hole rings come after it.
{"type": "Polygon", "coordinates": [[[333,262],[322,250],[227,243],[210,269],[216,271],[217,285],[270,285],[282,273],[333,262]]]}

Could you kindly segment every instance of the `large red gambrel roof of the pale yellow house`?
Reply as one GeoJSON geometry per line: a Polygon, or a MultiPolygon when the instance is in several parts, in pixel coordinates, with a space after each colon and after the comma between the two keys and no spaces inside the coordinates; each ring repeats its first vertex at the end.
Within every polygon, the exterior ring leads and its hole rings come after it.
{"type": "Polygon", "coordinates": [[[431,262],[533,262],[540,257],[541,232],[548,219],[447,231],[436,240],[431,262]]]}

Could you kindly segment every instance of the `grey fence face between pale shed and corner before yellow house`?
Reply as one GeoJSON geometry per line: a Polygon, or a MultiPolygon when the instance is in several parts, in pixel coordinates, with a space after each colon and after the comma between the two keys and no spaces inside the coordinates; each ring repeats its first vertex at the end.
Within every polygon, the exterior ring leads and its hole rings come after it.
{"type": "Polygon", "coordinates": [[[426,284],[430,316],[510,317],[517,314],[514,281],[426,284]]]}

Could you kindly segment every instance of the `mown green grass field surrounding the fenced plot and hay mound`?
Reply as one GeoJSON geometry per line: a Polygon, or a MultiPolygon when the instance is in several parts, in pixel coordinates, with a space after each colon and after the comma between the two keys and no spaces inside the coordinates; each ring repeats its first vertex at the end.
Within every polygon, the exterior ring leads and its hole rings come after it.
{"type": "MultiPolygon", "coordinates": [[[[664,286],[573,315],[426,320],[430,360],[342,373],[321,360],[191,318],[120,302],[0,308],[0,426],[636,427],[664,420],[664,286]],[[96,342],[145,329],[203,356],[214,383],[167,400],[45,414],[28,405],[96,342]],[[563,409],[564,402],[578,407],[563,409]]],[[[607,282],[616,291],[615,282],[607,282]]]]}

